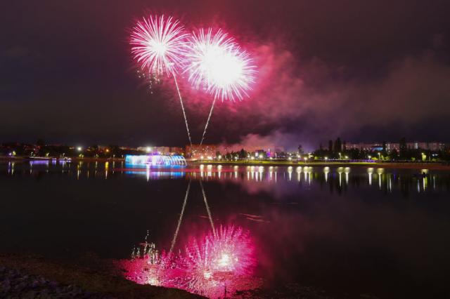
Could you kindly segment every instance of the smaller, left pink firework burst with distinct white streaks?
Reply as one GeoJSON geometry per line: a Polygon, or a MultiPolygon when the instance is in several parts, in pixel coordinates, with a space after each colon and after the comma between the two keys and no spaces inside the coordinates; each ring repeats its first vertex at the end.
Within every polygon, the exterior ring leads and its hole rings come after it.
{"type": "Polygon", "coordinates": [[[143,18],[131,32],[131,53],[143,69],[172,75],[183,61],[188,34],[178,20],[164,15],[143,18]]]}

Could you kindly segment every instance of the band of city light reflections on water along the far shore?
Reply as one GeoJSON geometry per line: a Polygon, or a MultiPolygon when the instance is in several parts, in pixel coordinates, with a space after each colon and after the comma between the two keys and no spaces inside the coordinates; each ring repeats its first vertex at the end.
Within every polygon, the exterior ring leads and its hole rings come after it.
{"type": "Polygon", "coordinates": [[[312,166],[238,166],[200,164],[188,168],[141,168],[124,167],[121,161],[65,161],[34,160],[8,161],[0,164],[0,174],[6,175],[42,175],[42,173],[59,172],[77,180],[103,178],[109,180],[117,176],[140,177],[147,181],[162,178],[186,178],[232,181],[243,185],[248,183],[297,184],[300,187],[330,185],[330,192],[346,192],[347,187],[371,187],[373,183],[378,190],[387,193],[401,190],[409,192],[429,192],[444,188],[449,184],[449,177],[442,171],[398,170],[364,167],[312,167],[312,166]],[[1,171],[4,169],[4,171],[1,171]],[[321,175],[320,173],[323,173],[321,175]],[[375,180],[375,182],[374,182],[375,180]]]}

